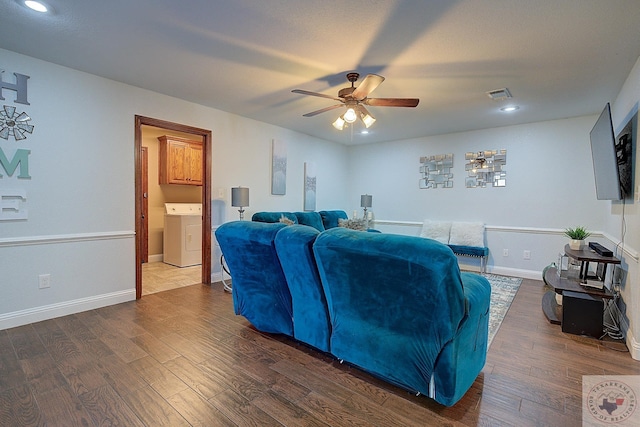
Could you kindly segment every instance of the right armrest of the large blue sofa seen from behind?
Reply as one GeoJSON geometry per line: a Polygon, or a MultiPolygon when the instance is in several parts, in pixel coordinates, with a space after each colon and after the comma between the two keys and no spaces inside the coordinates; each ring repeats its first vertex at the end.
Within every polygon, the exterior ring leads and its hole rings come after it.
{"type": "Polygon", "coordinates": [[[431,397],[451,406],[471,387],[487,359],[489,337],[489,281],[474,273],[461,273],[467,315],[455,338],[438,356],[433,371],[431,397]]]}

